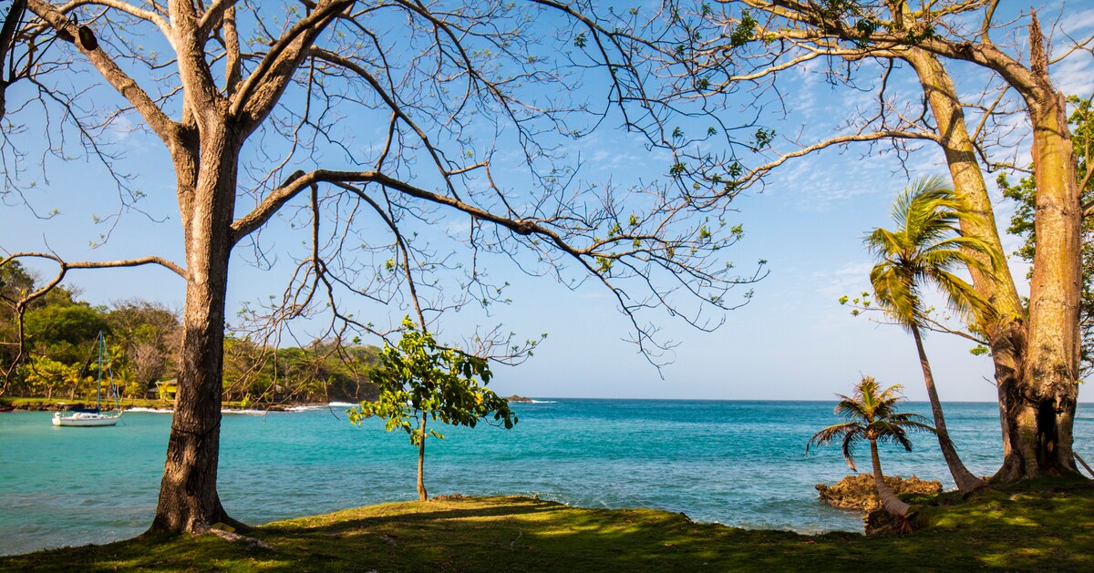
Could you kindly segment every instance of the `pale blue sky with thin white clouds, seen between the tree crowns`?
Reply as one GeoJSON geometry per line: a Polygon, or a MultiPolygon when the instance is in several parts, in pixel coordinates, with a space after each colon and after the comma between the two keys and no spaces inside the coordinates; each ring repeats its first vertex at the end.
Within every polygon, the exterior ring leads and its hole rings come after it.
{"type": "MultiPolygon", "coordinates": [[[[1094,9],[1069,8],[1067,24],[1076,35],[1094,30],[1094,9]]],[[[998,39],[997,39],[998,42],[998,39]]],[[[1054,69],[1054,79],[1068,93],[1094,91],[1094,66],[1090,55],[1064,60],[1054,69]]],[[[982,85],[978,71],[955,66],[958,90],[975,93],[982,85]]],[[[834,87],[823,70],[804,67],[785,80],[790,113],[771,120],[780,133],[801,132],[819,137],[831,132],[834,120],[849,107],[863,105],[869,93],[834,87]]],[[[896,74],[894,92],[915,93],[909,70],[896,74]]],[[[11,96],[10,96],[11,97],[11,96]]],[[[728,107],[725,114],[740,110],[728,107]]],[[[1015,124],[1020,130],[1024,121],[1015,124]]],[[[34,137],[33,126],[28,133],[34,137]]],[[[0,247],[5,252],[53,250],[70,260],[103,260],[155,254],[182,261],[181,230],[175,213],[171,165],[158,140],[140,131],[115,126],[107,135],[121,162],[137,176],[148,199],[146,214],[126,212],[113,227],[108,241],[100,235],[107,225],[92,215],[106,218],[118,209],[106,173],[86,161],[53,161],[48,182],[28,189],[23,197],[8,194],[0,206],[0,247]],[[25,202],[24,199],[25,198],[25,202]],[[35,217],[56,208],[49,219],[35,217]],[[98,247],[91,242],[103,243],[98,247]]],[[[572,152],[581,156],[582,177],[617,185],[650,180],[664,172],[662,156],[651,154],[633,136],[613,126],[602,126],[579,140],[572,152]]],[[[776,141],[780,149],[789,142],[776,141]]],[[[1019,151],[1020,161],[1028,154],[1019,151]]],[[[909,160],[912,176],[944,174],[940,153],[924,147],[909,160]]],[[[32,159],[33,161],[33,159],[32,159]]],[[[759,259],[770,273],[736,295],[753,289],[745,306],[724,315],[713,332],[687,327],[665,313],[647,316],[676,342],[672,362],[653,367],[627,341],[629,324],[603,286],[586,281],[568,289],[550,277],[529,277],[502,257],[486,258],[496,280],[511,283],[512,303],[494,306],[489,315],[468,308],[445,316],[438,325],[439,338],[459,339],[476,327],[501,324],[521,339],[540,332],[547,339],[535,355],[519,366],[498,366],[491,386],[503,395],[532,397],[673,398],[673,399],[830,399],[848,393],[862,375],[885,384],[903,384],[911,399],[926,399],[916,348],[898,327],[870,317],[852,317],[837,301],[868,289],[872,260],[862,245],[863,235],[891,223],[889,209],[897,191],[909,183],[892,156],[866,148],[827,151],[796,160],[777,171],[763,191],[754,188],[734,201],[733,223],[744,225],[744,241],[728,255],[740,269],[759,259]],[[865,155],[864,155],[865,154],[865,155]]],[[[31,169],[33,176],[33,168],[31,169]]],[[[987,175],[989,186],[994,175],[987,175]]],[[[1005,227],[1011,212],[1002,199],[997,218],[1005,227]]],[[[113,224],[113,221],[108,224],[113,224]]],[[[299,248],[284,221],[275,222],[264,235],[264,246],[280,257],[272,270],[256,268],[246,247],[237,248],[232,261],[228,314],[246,302],[280,294],[284,265],[299,248]],[[295,246],[290,246],[295,245],[295,246]]],[[[1019,245],[1004,238],[1009,252],[1019,245]]],[[[520,260],[520,259],[519,259],[520,260]]],[[[48,266],[35,266],[43,274],[48,266]]],[[[1025,267],[1013,261],[1012,271],[1024,283],[1025,267]]],[[[72,271],[66,284],[82,290],[93,304],[109,304],[143,297],[181,307],[184,284],[161,268],[72,271]]],[[[371,307],[377,323],[397,323],[405,308],[371,307]],[[380,316],[384,315],[384,316],[380,316]]],[[[715,316],[717,318],[717,316],[715,316]]],[[[307,331],[307,325],[301,332],[307,331]]],[[[370,342],[369,340],[365,340],[370,342]]],[[[371,341],[375,342],[375,341],[371,341]]],[[[952,336],[927,338],[939,393],[943,400],[993,400],[990,359],[969,353],[970,343],[952,336]]]]}

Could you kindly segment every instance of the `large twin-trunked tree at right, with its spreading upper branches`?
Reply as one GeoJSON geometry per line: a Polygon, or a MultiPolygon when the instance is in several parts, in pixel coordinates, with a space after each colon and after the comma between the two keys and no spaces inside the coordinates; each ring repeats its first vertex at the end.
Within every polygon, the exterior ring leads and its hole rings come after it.
{"type": "MultiPolygon", "coordinates": [[[[1075,147],[1066,94],[1049,69],[1068,55],[1089,50],[1094,39],[1068,40],[1057,46],[1061,56],[1050,58],[1035,10],[1004,21],[998,8],[998,2],[964,0],[922,5],[745,0],[707,7],[682,25],[702,38],[689,46],[707,62],[700,77],[711,90],[732,92],[741,89],[742,79],[764,78],[769,80],[768,92],[781,98],[780,80],[793,80],[796,70],[813,62],[826,67],[833,86],[850,94],[873,93],[874,106],[846,107],[847,116],[834,126],[838,133],[791,139],[785,149],[770,149],[777,157],[748,171],[741,185],[758,184],[787,162],[826,149],[874,149],[887,142],[893,153],[907,157],[918,143],[933,142],[944,154],[955,195],[976,215],[959,221],[962,233],[1002,253],[984,173],[1016,167],[1008,136],[1012,121],[1028,125],[1021,145],[1033,157],[1033,220],[1040,234],[1033,250],[1028,304],[1008,266],[989,272],[970,269],[974,288],[994,311],[992,320],[981,325],[994,366],[1004,443],[994,477],[1017,480],[1076,471],[1072,434],[1081,341],[1075,325],[1087,206],[1080,199],[1074,155],[1089,155],[1090,150],[1075,147]],[[978,25],[966,25],[974,21],[978,25]],[[997,42],[1004,35],[1005,43],[997,42]],[[848,68],[831,62],[848,62],[848,68]],[[979,83],[981,91],[955,85],[951,69],[963,66],[988,78],[979,83]],[[889,90],[905,73],[922,89],[909,100],[889,90]],[[875,78],[881,80],[871,81],[875,78]],[[1016,97],[1008,98],[1009,92],[1016,97]]],[[[764,103],[757,104],[759,109],[764,103]]]]}

